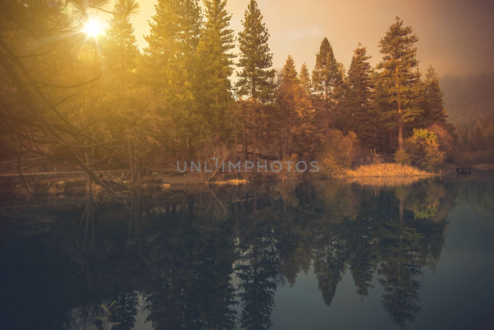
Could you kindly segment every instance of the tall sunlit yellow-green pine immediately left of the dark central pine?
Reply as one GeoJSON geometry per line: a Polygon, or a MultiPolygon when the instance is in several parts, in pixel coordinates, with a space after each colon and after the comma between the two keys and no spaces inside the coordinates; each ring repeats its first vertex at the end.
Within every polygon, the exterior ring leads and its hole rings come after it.
{"type": "Polygon", "coordinates": [[[210,130],[227,133],[226,112],[232,101],[232,58],[235,47],[231,15],[225,10],[226,0],[205,0],[206,23],[197,49],[197,104],[210,130]]]}

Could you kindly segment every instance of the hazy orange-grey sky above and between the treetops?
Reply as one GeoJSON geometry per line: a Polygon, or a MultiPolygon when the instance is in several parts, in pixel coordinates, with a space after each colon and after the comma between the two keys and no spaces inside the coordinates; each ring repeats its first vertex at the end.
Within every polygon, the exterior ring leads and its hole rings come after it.
{"type": "MultiPolygon", "coordinates": [[[[138,0],[141,9],[132,23],[139,48],[147,46],[148,20],[157,0],[138,0]]],[[[229,0],[231,28],[242,30],[249,0],[229,0]]],[[[282,67],[288,54],[297,68],[306,62],[312,70],[324,37],[336,59],[348,69],[359,42],[367,46],[371,64],[380,59],[377,44],[395,17],[412,26],[419,41],[420,70],[434,66],[439,76],[494,73],[494,1],[407,0],[331,1],[258,0],[271,34],[269,46],[274,67],[282,67]]]]}

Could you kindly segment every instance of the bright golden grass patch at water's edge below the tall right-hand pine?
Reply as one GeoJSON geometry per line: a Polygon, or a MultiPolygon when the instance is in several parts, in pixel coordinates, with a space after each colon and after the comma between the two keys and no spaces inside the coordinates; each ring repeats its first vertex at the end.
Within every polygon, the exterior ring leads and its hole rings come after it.
{"type": "Polygon", "coordinates": [[[400,164],[370,164],[349,169],[342,177],[371,177],[371,176],[432,176],[433,173],[410,165],[400,164]]]}

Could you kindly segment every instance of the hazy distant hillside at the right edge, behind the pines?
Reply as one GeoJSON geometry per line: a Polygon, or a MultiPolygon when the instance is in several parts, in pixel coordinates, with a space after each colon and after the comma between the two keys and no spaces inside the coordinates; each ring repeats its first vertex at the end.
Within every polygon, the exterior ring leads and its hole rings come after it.
{"type": "Polygon", "coordinates": [[[494,120],[494,75],[446,76],[440,80],[449,121],[472,125],[477,120],[494,120]]]}

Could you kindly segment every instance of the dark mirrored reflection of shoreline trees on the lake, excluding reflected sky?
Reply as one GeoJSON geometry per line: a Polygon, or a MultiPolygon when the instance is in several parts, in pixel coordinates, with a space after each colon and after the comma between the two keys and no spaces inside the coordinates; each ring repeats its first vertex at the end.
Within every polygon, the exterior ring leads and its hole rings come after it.
{"type": "Polygon", "coordinates": [[[130,210],[92,195],[6,208],[18,220],[2,224],[0,322],[99,329],[101,304],[116,301],[113,329],[133,329],[140,311],[153,329],[271,329],[277,289],[313,272],[331,308],[349,272],[362,300],[381,286],[382,308],[405,328],[421,311],[423,268],[441,258],[448,213],[467,199],[494,206],[492,181],[482,189],[325,181],[135,193],[130,210]]]}

